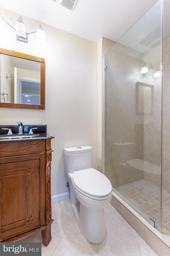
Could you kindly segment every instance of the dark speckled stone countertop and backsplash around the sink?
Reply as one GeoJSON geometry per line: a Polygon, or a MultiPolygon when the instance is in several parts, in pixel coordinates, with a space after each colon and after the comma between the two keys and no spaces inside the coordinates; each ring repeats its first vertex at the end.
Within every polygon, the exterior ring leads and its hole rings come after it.
{"type": "Polygon", "coordinates": [[[23,125],[24,134],[18,134],[18,125],[0,125],[0,142],[12,142],[12,141],[24,141],[24,140],[47,140],[53,139],[46,132],[46,125],[23,125]],[[33,130],[33,134],[29,134],[31,128],[38,127],[38,129],[33,130]],[[2,130],[2,128],[9,128],[12,130],[13,135],[8,135],[7,130],[2,130]],[[18,137],[19,136],[19,137],[18,137]]]}

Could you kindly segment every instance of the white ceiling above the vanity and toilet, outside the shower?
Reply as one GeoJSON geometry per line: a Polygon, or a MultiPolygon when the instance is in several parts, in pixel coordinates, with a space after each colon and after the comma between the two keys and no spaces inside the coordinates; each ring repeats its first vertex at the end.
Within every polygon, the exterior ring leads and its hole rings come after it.
{"type": "Polygon", "coordinates": [[[101,37],[117,42],[155,2],[79,0],[73,12],[51,0],[0,0],[0,7],[94,42],[101,37]]]}

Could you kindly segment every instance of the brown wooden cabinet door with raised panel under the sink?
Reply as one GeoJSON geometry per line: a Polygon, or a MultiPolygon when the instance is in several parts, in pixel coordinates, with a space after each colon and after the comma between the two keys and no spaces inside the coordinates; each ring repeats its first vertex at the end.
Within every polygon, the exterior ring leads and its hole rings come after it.
{"type": "Polygon", "coordinates": [[[40,226],[40,160],[0,164],[0,240],[40,226]]]}

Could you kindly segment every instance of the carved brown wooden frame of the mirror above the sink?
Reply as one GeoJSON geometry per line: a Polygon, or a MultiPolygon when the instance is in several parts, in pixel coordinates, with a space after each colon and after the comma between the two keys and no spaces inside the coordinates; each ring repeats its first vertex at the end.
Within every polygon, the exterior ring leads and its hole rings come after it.
{"type": "MultiPolygon", "coordinates": [[[[6,50],[0,48],[0,55],[6,54],[22,59],[32,60],[40,62],[40,105],[25,105],[25,104],[16,104],[16,103],[3,103],[0,102],[1,108],[26,108],[26,109],[45,109],[45,58],[39,58],[32,55],[14,52],[11,50],[6,50]]],[[[1,88],[1,84],[0,84],[1,88]]]]}

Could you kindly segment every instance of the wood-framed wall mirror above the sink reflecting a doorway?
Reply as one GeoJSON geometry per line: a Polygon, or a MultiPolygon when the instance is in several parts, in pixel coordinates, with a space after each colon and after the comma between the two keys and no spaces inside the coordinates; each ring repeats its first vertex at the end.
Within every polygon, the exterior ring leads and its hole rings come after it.
{"type": "Polygon", "coordinates": [[[45,59],[0,48],[0,107],[45,109],[45,59]]]}

